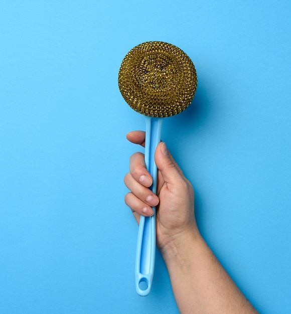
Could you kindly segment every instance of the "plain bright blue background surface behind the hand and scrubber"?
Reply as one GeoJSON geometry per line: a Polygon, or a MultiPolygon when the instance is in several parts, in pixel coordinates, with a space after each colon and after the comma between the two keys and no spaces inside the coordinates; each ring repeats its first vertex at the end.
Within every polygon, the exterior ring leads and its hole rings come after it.
{"type": "Polygon", "coordinates": [[[151,40],[197,69],[162,137],[202,235],[260,312],[290,312],[290,14],[287,0],[1,2],[1,313],[179,312],[159,253],[151,294],[136,294],[123,201],[125,134],[144,118],[117,75],[151,40]]]}

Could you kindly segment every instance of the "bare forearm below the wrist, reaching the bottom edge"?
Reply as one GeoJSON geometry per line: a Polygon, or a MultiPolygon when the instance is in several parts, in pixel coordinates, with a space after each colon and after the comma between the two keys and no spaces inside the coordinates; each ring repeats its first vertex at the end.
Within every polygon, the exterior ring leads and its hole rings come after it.
{"type": "Polygon", "coordinates": [[[181,313],[256,313],[199,232],[162,250],[181,313]]]}

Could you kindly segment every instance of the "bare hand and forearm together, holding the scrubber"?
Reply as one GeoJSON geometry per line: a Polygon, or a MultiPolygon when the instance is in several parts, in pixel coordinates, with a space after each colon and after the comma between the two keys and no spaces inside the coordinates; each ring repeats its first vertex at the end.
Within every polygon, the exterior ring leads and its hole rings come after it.
{"type": "MultiPolygon", "coordinates": [[[[126,135],[144,146],[145,133],[126,135]]],[[[157,195],[149,187],[153,179],[144,155],[130,157],[124,183],[130,190],[125,203],[137,223],[140,215],[154,214],[157,207],[157,245],[169,271],[175,299],[181,313],[257,313],[219,263],[202,238],[194,214],[194,190],[164,142],[155,153],[158,167],[157,195]]]]}

